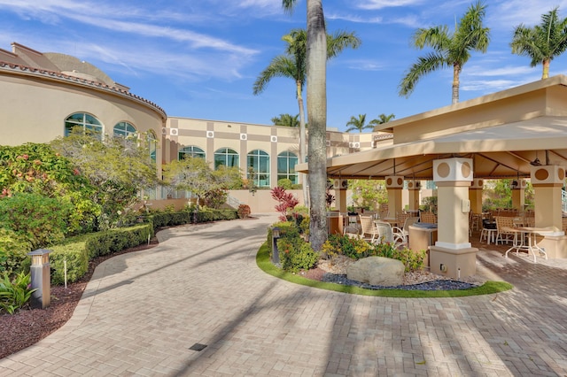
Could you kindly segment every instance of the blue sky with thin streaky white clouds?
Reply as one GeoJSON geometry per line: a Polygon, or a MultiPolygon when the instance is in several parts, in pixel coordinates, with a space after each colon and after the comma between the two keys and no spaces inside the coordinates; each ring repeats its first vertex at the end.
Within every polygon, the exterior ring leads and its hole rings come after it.
{"type": "MultiPolygon", "coordinates": [[[[323,0],[328,32],[355,32],[362,44],[330,60],[328,126],[346,129],[351,116],[396,119],[451,103],[452,69],[430,73],[415,92],[398,96],[404,72],[420,55],[410,36],[417,27],[454,27],[473,0],[323,0]]],[[[512,55],[514,27],[532,27],[541,14],[567,0],[487,0],[491,44],[474,52],[461,74],[461,100],[540,80],[541,65],[512,55]]],[[[0,0],[0,48],[19,42],[97,65],[159,104],[169,116],[271,124],[297,114],[294,83],[277,78],[260,96],[252,84],[283,53],[282,35],[306,27],[306,0],[282,11],[280,0],[0,0]]],[[[567,74],[567,54],[550,75],[567,74]]]]}

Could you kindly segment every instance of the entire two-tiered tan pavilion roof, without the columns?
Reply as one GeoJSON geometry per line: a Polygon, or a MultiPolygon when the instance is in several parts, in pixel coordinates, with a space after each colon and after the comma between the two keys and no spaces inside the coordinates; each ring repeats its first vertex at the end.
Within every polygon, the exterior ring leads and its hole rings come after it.
{"type": "MultiPolygon", "coordinates": [[[[432,179],[432,161],[472,158],[474,176],[530,176],[531,162],[567,165],[567,77],[481,96],[382,125],[392,144],[327,160],[330,178],[432,179]]],[[[307,164],[296,166],[306,172],[307,164]]]]}

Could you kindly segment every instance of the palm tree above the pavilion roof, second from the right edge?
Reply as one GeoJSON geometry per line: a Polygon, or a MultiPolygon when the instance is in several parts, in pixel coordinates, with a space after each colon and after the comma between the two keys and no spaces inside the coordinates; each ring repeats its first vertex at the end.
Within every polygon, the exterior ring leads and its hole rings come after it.
{"type": "Polygon", "coordinates": [[[459,102],[459,75],[470,58],[470,50],[486,52],[490,42],[490,29],[483,26],[485,5],[480,1],[470,5],[467,12],[455,24],[454,33],[451,34],[447,26],[419,28],[412,35],[412,44],[423,50],[429,46],[433,52],[420,57],[406,73],[400,82],[400,96],[409,96],[417,81],[425,74],[453,66],[453,104],[459,102]]]}

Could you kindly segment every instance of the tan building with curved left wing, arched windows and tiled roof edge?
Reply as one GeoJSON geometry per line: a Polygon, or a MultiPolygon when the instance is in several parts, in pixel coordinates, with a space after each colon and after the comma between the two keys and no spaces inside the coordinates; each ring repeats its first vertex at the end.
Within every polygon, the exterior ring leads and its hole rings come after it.
{"type": "MultiPolygon", "coordinates": [[[[240,122],[167,118],[166,112],[113,81],[94,65],[69,55],[42,53],[19,43],[0,49],[0,144],[50,142],[72,127],[103,134],[149,132],[155,143],[156,170],[185,154],[197,154],[215,164],[237,165],[245,174],[252,167],[255,186],[273,188],[289,178],[303,183],[295,172],[299,162],[299,129],[240,122]]],[[[375,148],[391,142],[389,135],[345,134],[329,130],[329,157],[375,148]]],[[[307,144],[307,143],[306,143],[307,144]]],[[[166,198],[165,190],[145,193],[166,198]]],[[[252,196],[232,193],[254,212],[274,211],[268,190],[252,196]]],[[[303,195],[296,192],[301,203],[303,195]]]]}

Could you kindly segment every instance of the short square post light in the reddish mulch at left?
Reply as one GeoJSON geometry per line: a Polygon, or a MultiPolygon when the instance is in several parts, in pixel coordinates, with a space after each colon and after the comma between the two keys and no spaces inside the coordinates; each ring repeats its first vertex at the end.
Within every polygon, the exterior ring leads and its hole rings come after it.
{"type": "Polygon", "coordinates": [[[31,297],[33,309],[45,309],[51,303],[50,252],[38,249],[27,253],[32,258],[30,266],[31,288],[35,289],[31,297]]]}

